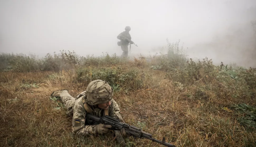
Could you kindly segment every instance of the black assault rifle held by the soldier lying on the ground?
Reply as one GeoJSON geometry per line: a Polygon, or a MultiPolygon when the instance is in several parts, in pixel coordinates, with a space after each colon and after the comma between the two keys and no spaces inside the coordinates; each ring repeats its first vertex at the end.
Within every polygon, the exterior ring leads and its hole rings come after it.
{"type": "Polygon", "coordinates": [[[86,114],[86,121],[89,124],[106,124],[106,125],[112,125],[112,128],[110,128],[111,130],[121,130],[122,128],[125,128],[125,131],[130,133],[132,136],[134,137],[138,137],[138,138],[146,138],[149,140],[152,140],[154,142],[157,142],[159,144],[168,146],[168,147],[176,147],[175,145],[169,144],[167,142],[165,142],[165,138],[163,137],[163,140],[157,140],[152,138],[152,135],[149,133],[146,133],[144,131],[142,131],[141,128],[126,124],[126,123],[121,123],[118,119],[113,118],[111,116],[105,115],[102,117],[98,117],[92,114],[87,113],[86,114]]]}

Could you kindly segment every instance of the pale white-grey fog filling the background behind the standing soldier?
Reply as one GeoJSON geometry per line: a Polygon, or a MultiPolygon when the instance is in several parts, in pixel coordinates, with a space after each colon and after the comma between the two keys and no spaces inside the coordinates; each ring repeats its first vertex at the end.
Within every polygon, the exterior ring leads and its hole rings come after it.
{"type": "Polygon", "coordinates": [[[181,39],[189,58],[256,66],[255,0],[0,0],[0,20],[5,53],[121,55],[116,37],[130,26],[130,55],[181,39]]]}

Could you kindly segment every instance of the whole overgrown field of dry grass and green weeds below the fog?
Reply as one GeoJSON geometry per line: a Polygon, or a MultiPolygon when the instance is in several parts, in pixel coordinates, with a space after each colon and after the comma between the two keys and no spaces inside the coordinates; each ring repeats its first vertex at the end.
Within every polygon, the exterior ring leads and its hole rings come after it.
{"type": "MultiPolygon", "coordinates": [[[[112,134],[76,136],[72,118],[54,90],[75,97],[91,80],[108,81],[126,123],[178,146],[256,146],[256,70],[186,59],[178,44],[168,54],[122,59],[80,57],[74,52],[43,59],[0,54],[0,146],[117,146],[112,134]]],[[[127,146],[161,146],[126,139],[127,146]]]]}

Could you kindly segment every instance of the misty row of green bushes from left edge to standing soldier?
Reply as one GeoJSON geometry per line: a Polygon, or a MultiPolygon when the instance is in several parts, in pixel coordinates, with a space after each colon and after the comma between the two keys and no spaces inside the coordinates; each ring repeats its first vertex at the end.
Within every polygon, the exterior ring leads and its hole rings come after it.
{"type": "Polygon", "coordinates": [[[54,54],[51,55],[48,53],[41,59],[36,59],[33,55],[0,53],[0,61],[1,71],[31,72],[73,69],[79,65],[103,66],[124,64],[128,62],[128,59],[118,57],[116,54],[110,56],[108,53],[100,57],[94,57],[93,55],[82,57],[77,55],[74,51],[62,50],[59,54],[54,52],[54,54]]]}

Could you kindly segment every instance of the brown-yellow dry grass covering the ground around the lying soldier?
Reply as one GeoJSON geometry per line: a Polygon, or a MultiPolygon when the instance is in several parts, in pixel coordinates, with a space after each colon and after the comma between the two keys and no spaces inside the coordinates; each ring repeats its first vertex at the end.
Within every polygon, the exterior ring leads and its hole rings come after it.
{"type": "MultiPolygon", "coordinates": [[[[149,75],[143,88],[121,87],[114,95],[127,123],[159,140],[165,136],[176,146],[255,146],[256,131],[247,131],[232,112],[221,109],[243,100],[224,97],[225,89],[223,97],[217,95],[211,86],[218,82],[212,80],[202,92],[198,89],[206,85],[200,80],[183,86],[164,79],[163,71],[148,69],[144,61],[135,59],[134,65],[149,75]]],[[[117,146],[113,135],[76,136],[72,118],[64,108],[55,109],[58,103],[50,99],[54,90],[68,89],[75,97],[86,89],[87,83],[75,81],[74,71],[2,72],[0,79],[0,146],[117,146]]],[[[252,99],[245,101],[255,106],[252,99]]],[[[146,139],[126,142],[127,146],[160,146],[146,139]]]]}

